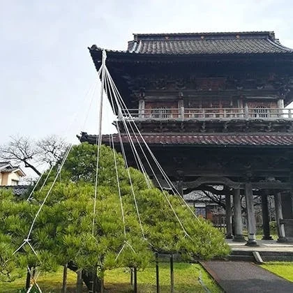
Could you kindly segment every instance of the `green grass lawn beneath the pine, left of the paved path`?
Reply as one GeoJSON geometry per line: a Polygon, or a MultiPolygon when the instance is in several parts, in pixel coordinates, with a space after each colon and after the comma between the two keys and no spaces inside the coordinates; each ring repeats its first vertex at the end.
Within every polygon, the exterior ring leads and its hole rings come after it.
{"type": "MultiPolygon", "coordinates": [[[[174,284],[176,293],[205,292],[197,280],[202,273],[202,280],[211,292],[223,292],[204,271],[200,264],[174,263],[174,284]]],[[[43,292],[60,292],[62,282],[62,268],[56,273],[46,273],[38,278],[38,284],[43,292]]],[[[0,292],[16,293],[24,287],[25,278],[12,283],[0,283],[0,292]]],[[[75,292],[76,274],[68,270],[68,292],[75,292]]],[[[150,266],[144,271],[137,272],[138,291],[141,293],[156,292],[156,269],[150,266]]],[[[114,269],[105,273],[105,292],[130,293],[130,273],[127,269],[114,269]]],[[[87,292],[84,287],[84,292],[87,292]]],[[[160,263],[160,292],[170,292],[169,264],[160,263]]]]}

